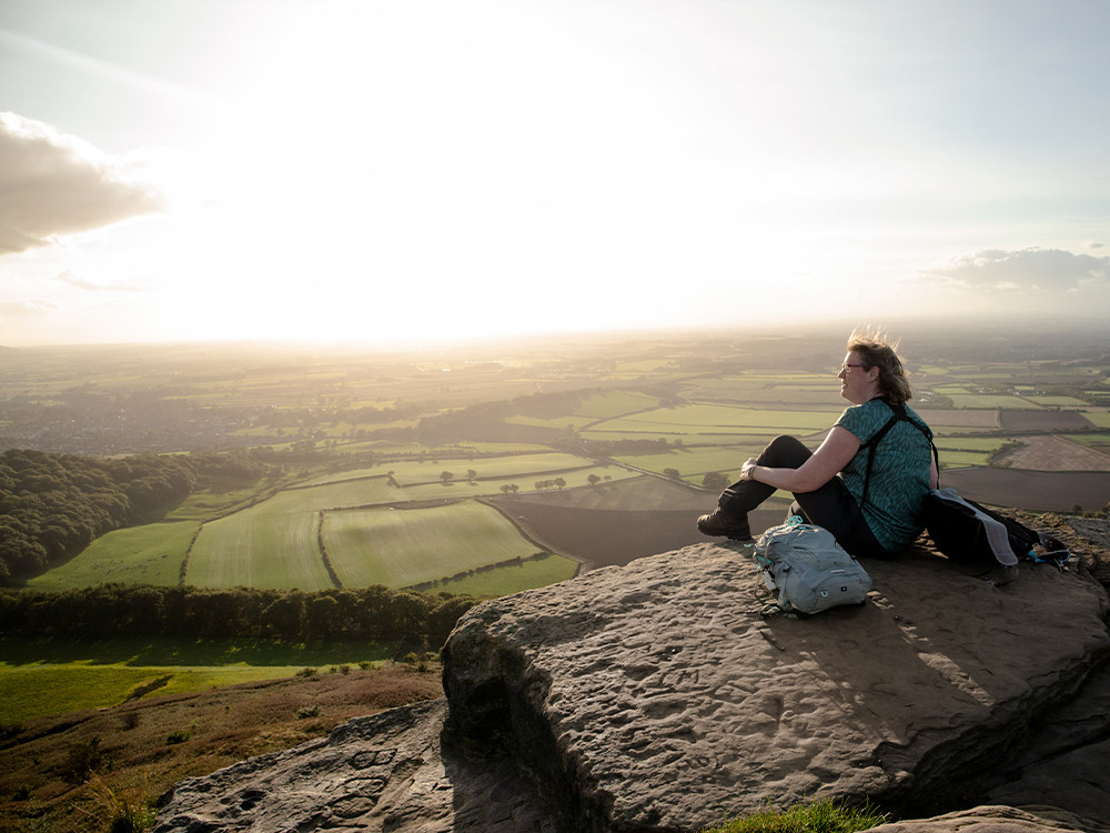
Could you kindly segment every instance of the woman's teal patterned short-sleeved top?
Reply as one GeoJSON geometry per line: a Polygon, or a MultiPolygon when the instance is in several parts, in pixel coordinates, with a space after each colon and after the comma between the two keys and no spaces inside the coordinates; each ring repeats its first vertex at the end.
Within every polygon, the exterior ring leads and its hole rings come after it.
{"type": "MultiPolygon", "coordinates": [[[[847,409],[837,425],[866,443],[894,415],[884,400],[872,399],[847,409]]],[[[906,415],[928,428],[909,405],[906,415]]],[[[929,432],[932,435],[932,432],[929,432]]],[[[867,474],[867,449],[860,449],[840,472],[844,484],[859,503],[867,474]]],[[[867,488],[864,518],[876,540],[891,552],[909,546],[922,529],[921,506],[929,493],[929,463],[932,450],[925,434],[906,422],[897,422],[875,448],[871,483],[867,488]]]]}

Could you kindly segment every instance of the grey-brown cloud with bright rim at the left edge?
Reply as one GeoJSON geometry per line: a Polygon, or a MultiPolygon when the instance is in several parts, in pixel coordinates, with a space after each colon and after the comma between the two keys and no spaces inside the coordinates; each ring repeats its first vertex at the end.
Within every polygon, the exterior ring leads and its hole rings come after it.
{"type": "Polygon", "coordinates": [[[0,112],[0,255],[159,211],[162,197],[88,142],[0,112]]]}

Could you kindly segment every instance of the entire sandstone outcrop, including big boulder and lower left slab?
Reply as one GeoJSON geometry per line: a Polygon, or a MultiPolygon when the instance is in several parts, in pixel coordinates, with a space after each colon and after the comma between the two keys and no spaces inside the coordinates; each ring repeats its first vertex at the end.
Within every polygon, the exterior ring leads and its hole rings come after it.
{"type": "Polygon", "coordinates": [[[1110,727],[1099,584],[1022,564],[998,588],[917,550],[864,562],[864,605],[765,618],[749,552],[700,544],[482,604],[445,650],[450,720],[448,700],[395,709],[185,780],[157,833],[646,833],[827,796],[1066,807],[884,833],[1110,833],[1089,821],[1110,819],[1108,750],[1086,745],[1110,727]]]}

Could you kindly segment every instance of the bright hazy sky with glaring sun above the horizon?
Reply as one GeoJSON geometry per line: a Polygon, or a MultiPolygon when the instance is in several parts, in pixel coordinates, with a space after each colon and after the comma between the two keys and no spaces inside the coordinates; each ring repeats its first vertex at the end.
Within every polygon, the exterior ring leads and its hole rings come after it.
{"type": "Polygon", "coordinates": [[[1110,313],[1102,0],[3,0],[0,345],[1110,313]]]}

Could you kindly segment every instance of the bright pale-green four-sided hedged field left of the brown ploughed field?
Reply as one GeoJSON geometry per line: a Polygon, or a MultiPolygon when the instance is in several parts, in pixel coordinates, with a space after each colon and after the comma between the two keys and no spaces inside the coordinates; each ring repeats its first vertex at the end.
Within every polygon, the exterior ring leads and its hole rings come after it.
{"type": "Polygon", "coordinates": [[[350,588],[402,588],[538,551],[504,515],[475,501],[330,512],[323,535],[336,574],[350,588]]]}

